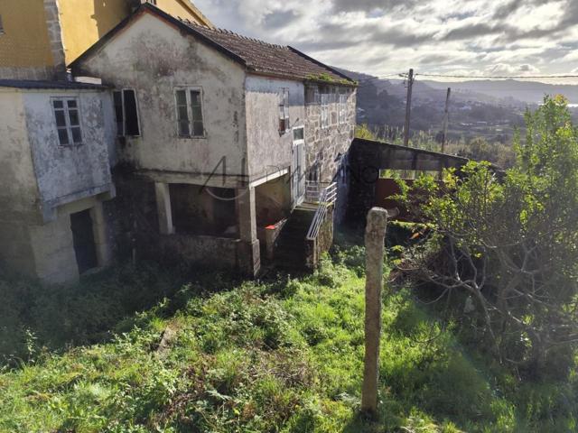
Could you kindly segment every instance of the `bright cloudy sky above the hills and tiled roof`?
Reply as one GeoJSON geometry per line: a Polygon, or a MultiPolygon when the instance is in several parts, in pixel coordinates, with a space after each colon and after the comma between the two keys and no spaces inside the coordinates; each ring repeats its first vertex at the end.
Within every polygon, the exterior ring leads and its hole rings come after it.
{"type": "Polygon", "coordinates": [[[213,23],[342,68],[578,74],[578,0],[193,0],[213,23]]]}

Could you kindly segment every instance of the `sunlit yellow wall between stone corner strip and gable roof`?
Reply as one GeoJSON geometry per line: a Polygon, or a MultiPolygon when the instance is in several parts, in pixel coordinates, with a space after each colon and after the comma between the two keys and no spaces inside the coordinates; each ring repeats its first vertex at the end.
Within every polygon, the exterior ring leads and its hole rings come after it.
{"type": "Polygon", "coordinates": [[[59,5],[67,64],[130,14],[126,0],[60,0],[59,5]]]}

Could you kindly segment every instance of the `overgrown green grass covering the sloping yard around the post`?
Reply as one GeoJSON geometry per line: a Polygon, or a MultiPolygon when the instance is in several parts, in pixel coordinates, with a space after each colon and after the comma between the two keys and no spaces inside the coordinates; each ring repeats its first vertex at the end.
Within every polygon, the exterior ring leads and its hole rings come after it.
{"type": "MultiPolygon", "coordinates": [[[[575,376],[521,384],[490,371],[456,342],[452,326],[420,308],[408,290],[391,288],[384,297],[380,415],[360,418],[362,257],[359,247],[341,251],[298,279],[218,277],[167,287],[170,296],[154,308],[115,316],[117,335],[107,343],[60,355],[32,347],[31,362],[0,374],[0,430],[575,431],[575,376]]],[[[119,290],[151,283],[139,279],[142,270],[116,272],[127,278],[119,290]]],[[[157,293],[182,278],[153,273],[157,293]]],[[[118,281],[114,273],[93,283],[118,281]]]]}

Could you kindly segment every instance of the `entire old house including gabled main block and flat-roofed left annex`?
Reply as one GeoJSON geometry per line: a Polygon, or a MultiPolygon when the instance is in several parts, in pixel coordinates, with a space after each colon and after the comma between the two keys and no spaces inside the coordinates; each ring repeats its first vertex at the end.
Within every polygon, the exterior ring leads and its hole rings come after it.
{"type": "Polygon", "coordinates": [[[0,120],[10,137],[0,175],[18,180],[0,196],[0,236],[13,245],[0,260],[10,267],[74,281],[115,249],[256,275],[262,258],[285,249],[314,262],[331,244],[355,127],[350,78],[291,47],[148,4],[70,68],[76,81],[5,81],[0,92],[0,104],[21,105],[0,120]],[[25,172],[14,168],[21,160],[25,172]],[[14,227],[22,235],[10,239],[14,227]],[[59,240],[49,247],[50,234],[59,240]],[[26,263],[32,250],[41,264],[26,263]]]}

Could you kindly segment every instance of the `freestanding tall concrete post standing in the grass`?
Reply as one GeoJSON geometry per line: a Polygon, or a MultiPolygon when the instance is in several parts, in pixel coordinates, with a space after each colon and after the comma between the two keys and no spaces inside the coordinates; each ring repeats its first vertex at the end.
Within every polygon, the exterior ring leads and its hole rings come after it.
{"type": "Polygon", "coordinates": [[[378,411],[379,339],[381,336],[381,290],[383,289],[384,239],[387,210],[372,208],[365,231],[365,365],[361,410],[375,416],[378,411]]]}

